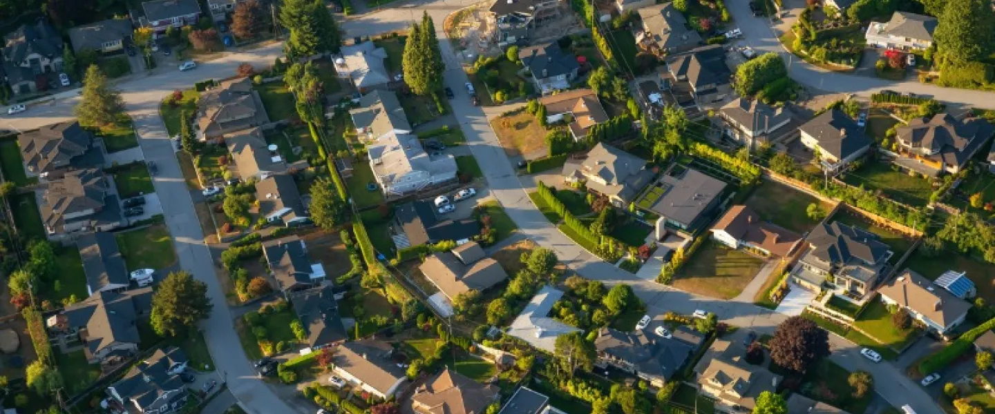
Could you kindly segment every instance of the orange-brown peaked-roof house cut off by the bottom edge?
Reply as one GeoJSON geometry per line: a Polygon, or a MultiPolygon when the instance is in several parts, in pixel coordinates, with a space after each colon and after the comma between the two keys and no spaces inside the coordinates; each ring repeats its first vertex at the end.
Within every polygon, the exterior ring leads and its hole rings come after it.
{"type": "Polygon", "coordinates": [[[411,408],[416,414],[484,414],[499,401],[499,391],[493,384],[481,384],[447,366],[415,390],[411,408]]]}

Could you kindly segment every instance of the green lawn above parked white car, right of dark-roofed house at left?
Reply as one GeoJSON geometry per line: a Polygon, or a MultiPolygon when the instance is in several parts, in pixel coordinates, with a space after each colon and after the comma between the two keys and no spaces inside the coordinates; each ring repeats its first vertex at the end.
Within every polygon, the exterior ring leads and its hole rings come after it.
{"type": "Polygon", "coordinates": [[[117,233],[117,246],[127,269],[164,269],[176,262],[172,236],[164,224],[117,233]]]}

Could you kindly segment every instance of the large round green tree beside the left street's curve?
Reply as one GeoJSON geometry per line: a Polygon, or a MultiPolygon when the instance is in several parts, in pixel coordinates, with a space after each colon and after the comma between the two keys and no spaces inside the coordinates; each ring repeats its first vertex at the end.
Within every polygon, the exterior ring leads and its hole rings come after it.
{"type": "Polygon", "coordinates": [[[207,284],[189,272],[172,272],[152,294],[152,329],[161,337],[177,336],[211,315],[207,284]]]}

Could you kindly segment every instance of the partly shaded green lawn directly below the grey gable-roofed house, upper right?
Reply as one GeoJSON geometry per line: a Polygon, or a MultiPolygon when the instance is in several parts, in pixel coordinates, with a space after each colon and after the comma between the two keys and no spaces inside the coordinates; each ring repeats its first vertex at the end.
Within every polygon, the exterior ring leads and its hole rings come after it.
{"type": "Polygon", "coordinates": [[[916,174],[892,169],[892,164],[869,161],[856,172],[846,174],[843,180],[852,186],[864,185],[870,191],[881,191],[885,197],[909,206],[925,206],[932,194],[932,185],[928,180],[916,174]]]}

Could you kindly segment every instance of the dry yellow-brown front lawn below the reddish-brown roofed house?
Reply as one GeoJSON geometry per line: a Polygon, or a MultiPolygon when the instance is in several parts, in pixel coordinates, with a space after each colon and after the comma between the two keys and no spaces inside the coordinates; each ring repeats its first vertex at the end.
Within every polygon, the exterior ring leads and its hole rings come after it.
{"type": "Polygon", "coordinates": [[[719,299],[732,299],[753,280],[763,260],[742,250],[705,242],[674,278],[674,287],[719,299]]]}

